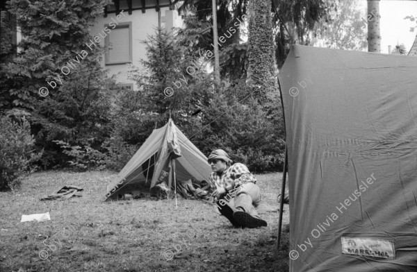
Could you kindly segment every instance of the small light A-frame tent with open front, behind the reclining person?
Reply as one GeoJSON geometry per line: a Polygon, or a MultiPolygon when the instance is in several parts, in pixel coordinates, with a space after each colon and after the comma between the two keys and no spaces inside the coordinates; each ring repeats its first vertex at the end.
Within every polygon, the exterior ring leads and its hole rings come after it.
{"type": "Polygon", "coordinates": [[[208,181],[211,167],[206,156],[175,126],[170,119],[152,132],[145,143],[107,186],[105,199],[117,198],[126,192],[149,192],[165,182],[171,188],[177,181],[208,181]]]}

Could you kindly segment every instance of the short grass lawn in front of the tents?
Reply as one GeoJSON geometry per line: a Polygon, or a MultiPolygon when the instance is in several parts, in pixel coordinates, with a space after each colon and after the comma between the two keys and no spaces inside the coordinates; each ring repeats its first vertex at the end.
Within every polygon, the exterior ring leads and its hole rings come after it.
{"type": "MultiPolygon", "coordinates": [[[[288,271],[287,231],[275,250],[278,212],[261,214],[268,227],[236,229],[202,201],[179,197],[178,209],[175,200],[102,202],[115,176],[44,171],[14,194],[0,192],[0,271],[288,271]],[[83,187],[83,196],[39,201],[63,185],[83,187]],[[51,221],[20,222],[44,212],[51,221]]],[[[263,199],[279,207],[281,173],[256,178],[263,199]]]]}

